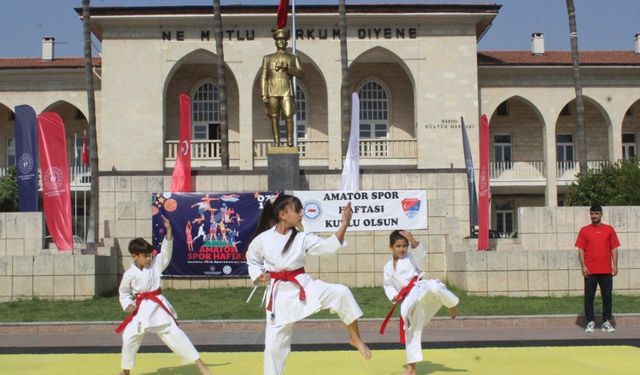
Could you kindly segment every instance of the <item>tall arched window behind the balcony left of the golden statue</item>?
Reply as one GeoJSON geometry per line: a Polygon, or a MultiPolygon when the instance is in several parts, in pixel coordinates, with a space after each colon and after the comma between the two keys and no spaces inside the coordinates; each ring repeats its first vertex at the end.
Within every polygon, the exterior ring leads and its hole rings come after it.
{"type": "Polygon", "coordinates": [[[220,91],[205,82],[191,94],[193,139],[220,139],[220,91]]]}

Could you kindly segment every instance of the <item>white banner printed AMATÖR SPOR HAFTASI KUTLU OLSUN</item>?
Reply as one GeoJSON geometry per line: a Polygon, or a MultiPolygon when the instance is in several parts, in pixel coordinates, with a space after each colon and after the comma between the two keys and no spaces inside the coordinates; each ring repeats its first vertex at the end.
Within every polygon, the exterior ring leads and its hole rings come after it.
{"type": "Polygon", "coordinates": [[[351,202],[349,231],[427,229],[424,190],[294,191],[302,201],[307,232],[335,232],[342,210],[351,202]]]}

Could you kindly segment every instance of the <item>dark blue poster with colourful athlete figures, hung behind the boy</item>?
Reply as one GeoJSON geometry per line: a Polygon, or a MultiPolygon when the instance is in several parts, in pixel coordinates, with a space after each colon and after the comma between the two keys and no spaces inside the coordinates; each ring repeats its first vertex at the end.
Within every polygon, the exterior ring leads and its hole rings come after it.
{"type": "Polygon", "coordinates": [[[170,276],[244,277],[246,251],[271,192],[153,193],[153,246],[160,249],[171,222],[173,257],[170,276]]]}

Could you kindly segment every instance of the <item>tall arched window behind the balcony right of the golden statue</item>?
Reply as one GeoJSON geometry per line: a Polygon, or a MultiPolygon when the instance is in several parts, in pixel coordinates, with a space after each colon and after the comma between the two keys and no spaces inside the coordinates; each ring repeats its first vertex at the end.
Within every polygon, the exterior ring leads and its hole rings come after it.
{"type": "Polygon", "coordinates": [[[389,96],[375,81],[358,91],[360,96],[360,138],[387,138],[389,132],[389,96]]]}

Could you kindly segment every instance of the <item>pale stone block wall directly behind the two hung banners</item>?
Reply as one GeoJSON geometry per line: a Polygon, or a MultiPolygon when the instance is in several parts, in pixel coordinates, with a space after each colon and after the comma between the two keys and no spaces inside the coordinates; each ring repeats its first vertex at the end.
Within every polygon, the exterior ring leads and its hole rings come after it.
{"type": "MultiPolygon", "coordinates": [[[[309,190],[338,190],[340,175],[312,173],[303,175],[303,185],[309,190]]],[[[198,175],[193,179],[194,190],[201,192],[267,191],[267,175],[228,174],[198,175]]],[[[151,237],[152,192],[168,191],[170,176],[103,176],[100,177],[100,212],[106,220],[107,237],[114,240],[118,255],[118,274],[129,267],[129,241],[137,236],[151,237]]],[[[469,232],[466,175],[459,172],[419,173],[365,171],[361,189],[422,189],[427,192],[429,229],[415,231],[416,237],[427,245],[430,277],[445,278],[447,245],[462,244],[469,232]]],[[[339,282],[354,287],[382,285],[382,268],[390,258],[388,231],[349,233],[348,246],[338,254],[309,257],[306,270],[327,282],[339,282]]],[[[173,288],[208,288],[249,286],[243,279],[165,278],[164,286],[173,288]]]]}

